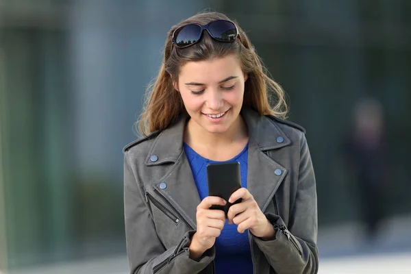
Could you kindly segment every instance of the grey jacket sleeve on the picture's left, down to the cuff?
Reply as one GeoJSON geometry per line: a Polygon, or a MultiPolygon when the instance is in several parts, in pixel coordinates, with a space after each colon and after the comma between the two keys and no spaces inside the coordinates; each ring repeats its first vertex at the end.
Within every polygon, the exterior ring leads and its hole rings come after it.
{"type": "Polygon", "coordinates": [[[199,260],[189,258],[188,247],[195,231],[186,232],[175,247],[165,249],[155,232],[155,225],[145,203],[142,184],[124,154],[125,237],[130,273],[199,273],[212,260],[215,250],[209,249],[199,260]]]}

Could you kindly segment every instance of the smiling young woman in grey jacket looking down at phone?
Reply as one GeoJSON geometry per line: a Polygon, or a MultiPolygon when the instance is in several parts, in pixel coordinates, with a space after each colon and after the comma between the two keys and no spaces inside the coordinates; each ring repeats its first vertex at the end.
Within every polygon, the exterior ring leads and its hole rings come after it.
{"type": "Polygon", "coordinates": [[[316,184],[284,92],[224,14],[171,28],[125,152],[131,273],[316,273],[316,184]],[[273,92],[273,106],[268,92],[273,92]],[[206,166],[240,162],[242,188],[208,196],[206,166]],[[236,201],[227,218],[212,205],[236,201]]]}

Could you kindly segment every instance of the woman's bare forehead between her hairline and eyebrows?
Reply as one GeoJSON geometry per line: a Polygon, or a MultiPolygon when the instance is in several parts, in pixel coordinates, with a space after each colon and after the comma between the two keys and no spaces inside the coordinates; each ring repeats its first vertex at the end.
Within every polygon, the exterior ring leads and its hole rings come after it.
{"type": "Polygon", "coordinates": [[[240,62],[234,55],[228,55],[212,60],[187,62],[182,66],[179,79],[206,84],[220,82],[229,76],[239,76],[240,73],[240,62]]]}

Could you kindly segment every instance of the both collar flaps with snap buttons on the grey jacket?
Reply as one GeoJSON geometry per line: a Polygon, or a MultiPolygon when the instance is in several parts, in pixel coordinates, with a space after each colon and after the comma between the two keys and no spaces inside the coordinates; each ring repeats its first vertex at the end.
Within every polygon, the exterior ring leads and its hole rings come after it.
{"type": "MultiPolygon", "coordinates": [[[[288,136],[269,117],[260,116],[258,112],[249,108],[243,108],[240,114],[247,124],[249,147],[255,146],[261,151],[267,151],[290,145],[288,136]],[[282,142],[277,141],[279,137],[282,137],[282,142]]],[[[164,129],[155,138],[145,160],[147,166],[177,161],[183,150],[184,127],[187,119],[186,114],[181,114],[174,125],[164,129]]]]}

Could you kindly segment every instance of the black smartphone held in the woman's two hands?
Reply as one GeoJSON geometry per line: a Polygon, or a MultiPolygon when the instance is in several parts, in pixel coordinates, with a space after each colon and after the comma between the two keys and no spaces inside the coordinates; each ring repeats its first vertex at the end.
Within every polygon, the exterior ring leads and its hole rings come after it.
{"type": "Polygon", "coordinates": [[[214,205],[210,209],[223,210],[225,216],[230,206],[240,203],[242,199],[229,203],[229,197],[241,188],[239,162],[212,163],[207,165],[208,196],[221,197],[227,201],[225,206],[214,205]]]}

